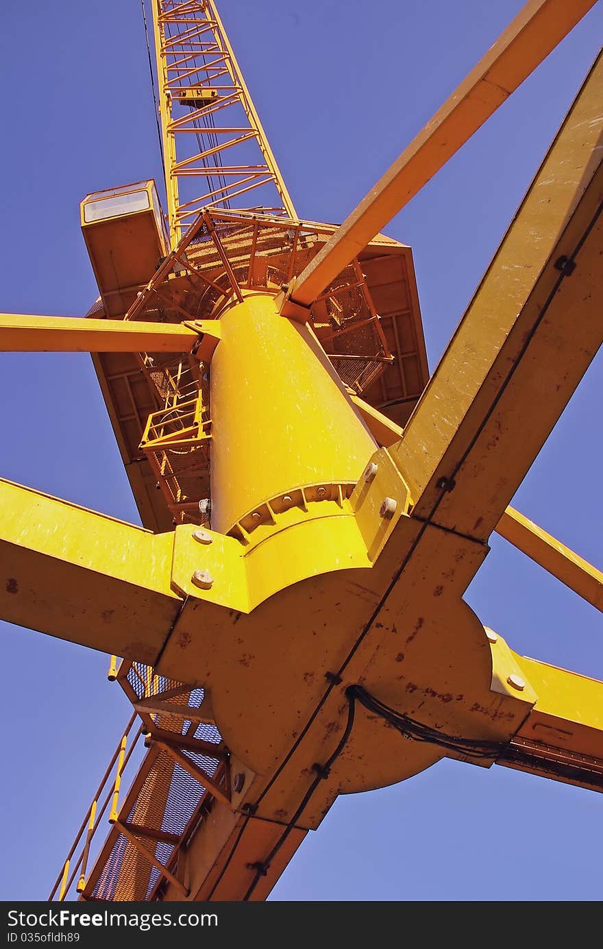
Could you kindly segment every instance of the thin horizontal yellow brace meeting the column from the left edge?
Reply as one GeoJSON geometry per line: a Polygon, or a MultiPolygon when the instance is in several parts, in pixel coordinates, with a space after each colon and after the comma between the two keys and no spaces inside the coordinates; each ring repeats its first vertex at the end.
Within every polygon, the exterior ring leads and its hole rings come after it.
{"type": "Polygon", "coordinates": [[[191,352],[198,332],[181,324],[0,313],[0,352],[191,352]]]}

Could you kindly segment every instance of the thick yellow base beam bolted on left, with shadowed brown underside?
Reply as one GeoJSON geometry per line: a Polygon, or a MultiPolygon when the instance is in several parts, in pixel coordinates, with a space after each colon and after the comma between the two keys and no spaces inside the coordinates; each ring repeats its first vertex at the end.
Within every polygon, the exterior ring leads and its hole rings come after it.
{"type": "Polygon", "coordinates": [[[182,605],[173,534],[0,480],[0,615],[153,665],[182,605]]]}

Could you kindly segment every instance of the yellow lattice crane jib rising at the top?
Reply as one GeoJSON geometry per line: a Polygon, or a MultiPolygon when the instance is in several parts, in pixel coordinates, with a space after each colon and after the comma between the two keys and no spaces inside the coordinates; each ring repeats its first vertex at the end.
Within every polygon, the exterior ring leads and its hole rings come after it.
{"type": "Polygon", "coordinates": [[[152,4],[173,245],[202,208],[294,217],[213,0],[152,4]]]}

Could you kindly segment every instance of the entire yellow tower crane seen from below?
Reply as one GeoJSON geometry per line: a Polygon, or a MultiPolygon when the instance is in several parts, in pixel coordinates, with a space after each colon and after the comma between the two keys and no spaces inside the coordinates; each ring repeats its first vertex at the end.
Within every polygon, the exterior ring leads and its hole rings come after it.
{"type": "Polygon", "coordinates": [[[296,216],[215,4],[153,3],[168,227],[152,181],[87,195],[97,303],[0,318],[93,353],[147,529],[1,485],[2,616],[122,657],[134,709],[51,897],[264,899],[339,793],[443,755],[601,789],[603,684],[462,595],[497,530],[601,608],[508,503],[600,343],[603,65],[430,379],[379,233],[592,6],[528,3],[335,228],[296,216]]]}

